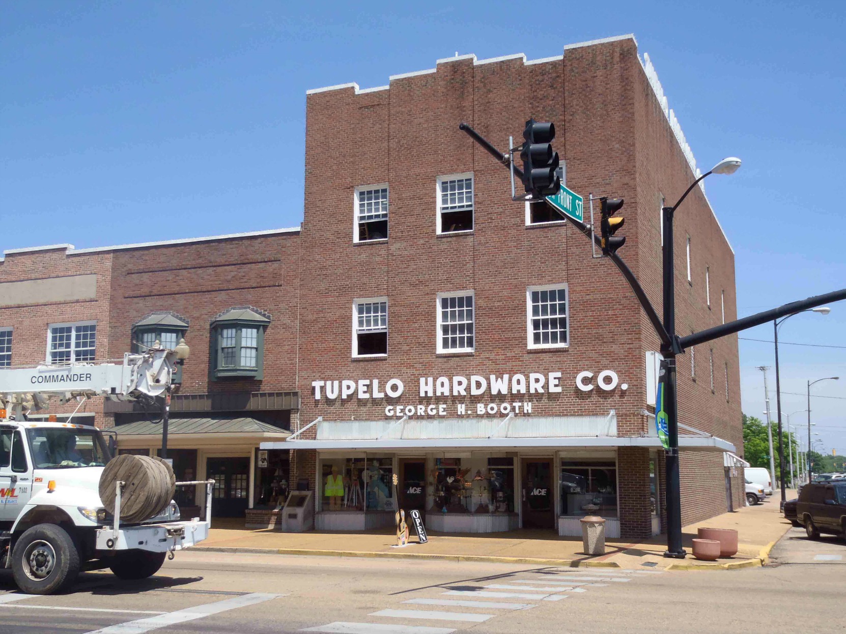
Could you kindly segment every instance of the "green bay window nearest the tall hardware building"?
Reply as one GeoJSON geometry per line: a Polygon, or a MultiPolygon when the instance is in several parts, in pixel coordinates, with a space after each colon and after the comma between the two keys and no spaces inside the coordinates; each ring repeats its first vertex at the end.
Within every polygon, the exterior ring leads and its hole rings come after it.
{"type": "Polygon", "coordinates": [[[264,378],[264,333],[271,316],[263,310],[239,306],[223,311],[211,322],[213,379],[264,378]]]}

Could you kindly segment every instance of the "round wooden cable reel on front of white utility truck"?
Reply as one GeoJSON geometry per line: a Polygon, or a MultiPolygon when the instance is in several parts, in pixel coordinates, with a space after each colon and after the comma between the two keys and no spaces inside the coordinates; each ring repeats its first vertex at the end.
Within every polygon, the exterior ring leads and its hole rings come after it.
{"type": "Polygon", "coordinates": [[[176,492],[176,476],[162,458],[123,454],[109,462],[100,476],[100,500],[112,515],[118,482],[125,483],[120,494],[122,522],[144,522],[160,515],[176,492]]]}

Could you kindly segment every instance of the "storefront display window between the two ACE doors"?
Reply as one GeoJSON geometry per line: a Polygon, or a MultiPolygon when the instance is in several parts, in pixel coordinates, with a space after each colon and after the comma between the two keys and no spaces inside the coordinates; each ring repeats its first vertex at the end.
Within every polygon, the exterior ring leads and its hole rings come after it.
{"type": "Polygon", "coordinates": [[[433,481],[431,512],[514,512],[514,458],[436,458],[433,481]]]}

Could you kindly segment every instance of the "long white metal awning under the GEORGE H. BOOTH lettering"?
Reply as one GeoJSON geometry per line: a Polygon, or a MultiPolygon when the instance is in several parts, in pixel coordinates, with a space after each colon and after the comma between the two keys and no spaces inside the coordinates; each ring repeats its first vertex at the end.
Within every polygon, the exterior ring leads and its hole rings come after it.
{"type": "MultiPolygon", "coordinates": [[[[711,435],[679,435],[688,450],[735,451],[734,445],[711,435]]],[[[617,435],[617,414],[607,416],[508,416],[506,418],[435,418],[398,420],[316,421],[284,443],[262,442],[261,449],[467,449],[515,447],[661,447],[656,436],[617,435]],[[299,435],[316,426],[314,440],[299,435]]]]}

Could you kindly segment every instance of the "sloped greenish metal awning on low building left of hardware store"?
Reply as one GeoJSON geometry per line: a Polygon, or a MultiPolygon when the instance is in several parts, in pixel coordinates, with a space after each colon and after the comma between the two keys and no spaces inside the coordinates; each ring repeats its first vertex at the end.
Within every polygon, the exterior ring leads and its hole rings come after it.
{"type": "MultiPolygon", "coordinates": [[[[113,428],[118,440],[140,439],[144,436],[161,436],[162,424],[141,420],[118,425],[113,428]]],[[[255,418],[213,417],[213,418],[169,418],[168,436],[214,435],[225,438],[265,438],[284,440],[291,433],[272,424],[262,423],[255,418]]]]}

